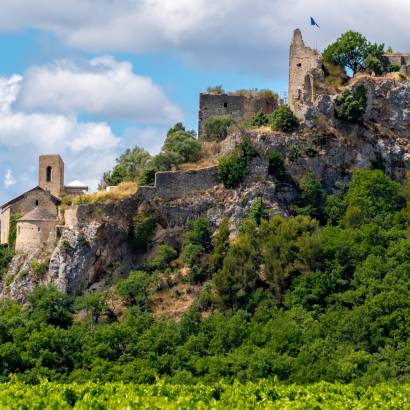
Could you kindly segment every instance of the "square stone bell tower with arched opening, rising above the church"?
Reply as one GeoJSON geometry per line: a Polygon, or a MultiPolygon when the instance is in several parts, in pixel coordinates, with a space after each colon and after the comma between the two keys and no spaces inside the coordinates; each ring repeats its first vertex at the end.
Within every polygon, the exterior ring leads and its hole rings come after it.
{"type": "Polygon", "coordinates": [[[60,155],[40,155],[38,185],[59,197],[64,191],[64,162],[60,155]]]}

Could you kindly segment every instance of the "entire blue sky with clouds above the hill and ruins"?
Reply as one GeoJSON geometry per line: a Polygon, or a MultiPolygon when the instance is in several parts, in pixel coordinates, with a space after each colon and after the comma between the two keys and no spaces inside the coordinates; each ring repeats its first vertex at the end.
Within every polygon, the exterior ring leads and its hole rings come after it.
{"type": "Polygon", "coordinates": [[[196,130],[208,86],[283,95],[295,28],[410,51],[409,20],[408,0],[1,0],[0,203],[37,184],[39,154],[95,189],[126,148],[196,130]]]}

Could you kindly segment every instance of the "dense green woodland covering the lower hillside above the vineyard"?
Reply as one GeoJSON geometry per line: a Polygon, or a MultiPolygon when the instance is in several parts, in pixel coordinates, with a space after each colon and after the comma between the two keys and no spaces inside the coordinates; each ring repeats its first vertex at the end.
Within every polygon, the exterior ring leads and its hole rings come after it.
{"type": "MultiPolygon", "coordinates": [[[[255,198],[234,239],[227,221],[214,237],[206,219],[192,221],[181,280],[203,286],[178,321],[151,313],[159,274],[175,278],[184,263],[169,246],[111,290],[121,315],[107,294],[72,300],[52,287],[26,306],[3,301],[0,380],[408,382],[409,186],[355,171],[323,199],[321,223],[272,218],[255,198]]],[[[308,176],[305,198],[318,188],[308,176]]]]}

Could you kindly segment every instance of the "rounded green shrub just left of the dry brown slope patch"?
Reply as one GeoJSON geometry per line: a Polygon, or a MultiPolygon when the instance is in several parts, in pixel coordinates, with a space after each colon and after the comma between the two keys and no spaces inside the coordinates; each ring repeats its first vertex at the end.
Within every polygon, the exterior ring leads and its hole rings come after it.
{"type": "Polygon", "coordinates": [[[148,306],[149,281],[146,272],[130,272],[127,279],[123,279],[117,284],[117,293],[128,305],[146,309],[148,306]]]}

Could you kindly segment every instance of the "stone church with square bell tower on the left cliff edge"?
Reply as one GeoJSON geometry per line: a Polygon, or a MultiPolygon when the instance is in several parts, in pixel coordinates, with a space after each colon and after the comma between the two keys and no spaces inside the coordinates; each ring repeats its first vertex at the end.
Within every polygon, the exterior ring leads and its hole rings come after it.
{"type": "Polygon", "coordinates": [[[1,243],[8,243],[11,221],[17,218],[17,252],[38,249],[47,242],[59,220],[62,194],[88,191],[79,181],[64,186],[64,162],[59,155],[40,156],[38,181],[38,186],[1,206],[1,243]]]}

